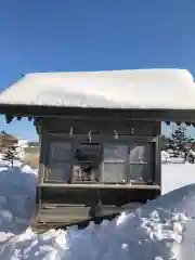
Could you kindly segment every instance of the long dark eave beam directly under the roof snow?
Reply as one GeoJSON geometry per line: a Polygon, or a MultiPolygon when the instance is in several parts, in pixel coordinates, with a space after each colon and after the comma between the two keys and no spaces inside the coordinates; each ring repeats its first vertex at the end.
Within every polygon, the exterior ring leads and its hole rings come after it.
{"type": "Polygon", "coordinates": [[[0,104],[0,114],[21,117],[126,118],[144,121],[195,122],[195,109],[120,109],[90,107],[52,107],[38,105],[0,104]]]}

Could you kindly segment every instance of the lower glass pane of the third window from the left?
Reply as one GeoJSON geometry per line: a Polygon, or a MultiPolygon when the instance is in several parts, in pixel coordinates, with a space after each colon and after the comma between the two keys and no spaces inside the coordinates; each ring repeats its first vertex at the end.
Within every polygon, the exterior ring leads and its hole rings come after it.
{"type": "Polygon", "coordinates": [[[126,182],[126,165],[125,164],[104,164],[102,182],[126,182]]]}

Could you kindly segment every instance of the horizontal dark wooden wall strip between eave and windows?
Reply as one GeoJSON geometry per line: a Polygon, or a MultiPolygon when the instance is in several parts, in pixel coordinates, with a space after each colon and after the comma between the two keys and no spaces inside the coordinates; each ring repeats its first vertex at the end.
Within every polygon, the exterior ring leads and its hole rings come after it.
{"type": "Polygon", "coordinates": [[[41,127],[41,131],[51,133],[69,133],[73,128],[74,133],[87,134],[89,131],[92,133],[106,133],[113,134],[114,130],[118,134],[127,135],[145,135],[156,136],[160,134],[160,122],[154,121],[135,121],[135,120],[105,120],[105,119],[69,119],[69,118],[43,118],[41,121],[36,122],[41,127]]]}

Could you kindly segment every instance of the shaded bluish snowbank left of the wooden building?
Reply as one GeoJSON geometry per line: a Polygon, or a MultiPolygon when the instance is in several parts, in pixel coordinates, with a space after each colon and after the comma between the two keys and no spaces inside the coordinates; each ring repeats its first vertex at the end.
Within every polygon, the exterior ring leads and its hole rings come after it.
{"type": "Polygon", "coordinates": [[[35,173],[22,174],[18,167],[0,168],[0,237],[2,232],[20,234],[28,226],[37,183],[35,173]]]}

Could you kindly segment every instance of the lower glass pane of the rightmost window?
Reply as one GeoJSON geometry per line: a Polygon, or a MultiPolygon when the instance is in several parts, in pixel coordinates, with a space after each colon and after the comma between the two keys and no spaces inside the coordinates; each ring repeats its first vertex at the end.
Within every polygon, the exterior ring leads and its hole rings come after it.
{"type": "Polygon", "coordinates": [[[130,165],[129,179],[136,182],[152,182],[154,176],[154,165],[130,165]]]}

